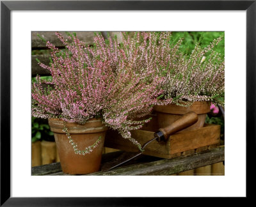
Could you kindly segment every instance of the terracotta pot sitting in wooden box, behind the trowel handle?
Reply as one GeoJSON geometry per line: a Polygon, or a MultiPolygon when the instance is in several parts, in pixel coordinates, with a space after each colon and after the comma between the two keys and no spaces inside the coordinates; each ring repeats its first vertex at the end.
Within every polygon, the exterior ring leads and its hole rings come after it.
{"type": "Polygon", "coordinates": [[[204,127],[206,114],[210,112],[210,102],[193,102],[189,107],[182,107],[180,105],[169,104],[169,105],[156,105],[154,111],[157,113],[157,122],[159,128],[167,127],[174,121],[179,119],[183,114],[188,112],[195,112],[198,114],[198,121],[191,125],[185,130],[191,130],[196,128],[204,127]]]}

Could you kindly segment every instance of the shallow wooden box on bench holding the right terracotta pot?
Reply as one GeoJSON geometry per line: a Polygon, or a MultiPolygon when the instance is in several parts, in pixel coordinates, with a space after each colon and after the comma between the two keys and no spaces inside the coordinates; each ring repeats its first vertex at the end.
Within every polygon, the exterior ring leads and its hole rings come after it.
{"type": "MultiPolygon", "coordinates": [[[[154,132],[156,131],[157,126],[152,121],[150,125],[146,125],[142,130],[133,130],[131,134],[132,138],[140,142],[142,146],[145,142],[154,138],[154,132]]],[[[205,124],[202,128],[170,135],[166,142],[152,141],[145,147],[143,154],[161,158],[173,158],[195,153],[195,151],[207,150],[218,145],[220,145],[220,125],[205,124]]],[[[108,130],[105,146],[124,151],[140,151],[137,146],[132,144],[131,141],[122,138],[115,130],[108,130]]]]}

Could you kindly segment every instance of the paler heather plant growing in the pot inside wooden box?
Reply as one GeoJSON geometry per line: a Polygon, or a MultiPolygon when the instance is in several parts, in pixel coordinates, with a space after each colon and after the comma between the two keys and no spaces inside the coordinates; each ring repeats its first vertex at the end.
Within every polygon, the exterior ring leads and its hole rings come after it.
{"type": "Polygon", "coordinates": [[[179,54],[165,69],[164,99],[188,106],[196,101],[211,101],[224,106],[225,61],[214,51],[222,37],[205,48],[196,43],[193,52],[179,54]]]}

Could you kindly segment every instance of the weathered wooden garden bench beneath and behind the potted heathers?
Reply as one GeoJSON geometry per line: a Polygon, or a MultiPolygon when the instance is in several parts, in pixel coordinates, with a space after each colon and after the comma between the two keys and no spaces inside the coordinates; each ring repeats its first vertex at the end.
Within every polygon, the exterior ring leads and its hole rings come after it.
{"type": "MultiPolygon", "coordinates": [[[[56,45],[56,47],[64,48],[63,43],[58,40],[54,32],[32,32],[32,52],[33,50],[38,50],[40,54],[32,55],[31,58],[31,76],[35,77],[36,74],[40,76],[51,75],[48,70],[41,68],[38,65],[36,59],[39,59],[45,65],[49,65],[50,55],[45,52],[47,47],[45,46],[44,40],[38,37],[40,34],[45,40],[49,40],[51,43],[56,45]]],[[[65,33],[63,33],[66,35],[65,33]]],[[[106,33],[103,33],[106,36],[106,33]]],[[[117,34],[120,38],[120,33],[110,33],[110,36],[117,34]]],[[[76,32],[79,40],[85,42],[87,45],[92,45],[93,43],[93,32],[76,32]]],[[[206,165],[216,164],[224,161],[224,151],[223,145],[220,146],[205,146],[203,148],[198,148],[195,150],[190,150],[182,152],[180,157],[173,158],[158,158],[148,155],[141,155],[140,157],[134,158],[127,164],[120,167],[116,167],[111,171],[105,171],[109,167],[118,164],[127,158],[134,155],[134,152],[128,151],[115,151],[112,153],[106,153],[102,155],[101,171],[86,175],[170,175],[176,174],[183,171],[188,171],[191,169],[196,169],[198,167],[204,167],[206,165]]],[[[135,153],[136,154],[136,153],[135,153]]],[[[32,175],[67,175],[61,171],[60,162],[40,165],[32,167],[32,175]]]]}

